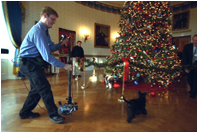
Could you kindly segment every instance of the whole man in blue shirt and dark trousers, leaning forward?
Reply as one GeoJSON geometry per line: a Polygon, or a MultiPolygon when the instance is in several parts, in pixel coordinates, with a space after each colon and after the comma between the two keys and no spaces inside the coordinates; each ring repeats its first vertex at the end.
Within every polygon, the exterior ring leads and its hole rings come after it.
{"type": "Polygon", "coordinates": [[[32,110],[36,107],[40,98],[42,98],[50,121],[62,123],[65,120],[64,117],[57,113],[57,106],[54,103],[51,86],[43,69],[45,62],[48,62],[53,66],[72,70],[70,64],[64,64],[50,54],[53,51],[59,50],[62,45],[68,42],[68,38],[62,40],[59,44],[54,44],[51,41],[48,29],[52,28],[57,17],[58,14],[55,10],[50,7],[44,7],[41,12],[40,21],[30,29],[20,46],[19,69],[28,78],[31,87],[19,113],[19,118],[21,119],[39,117],[39,113],[33,113],[32,110]]]}

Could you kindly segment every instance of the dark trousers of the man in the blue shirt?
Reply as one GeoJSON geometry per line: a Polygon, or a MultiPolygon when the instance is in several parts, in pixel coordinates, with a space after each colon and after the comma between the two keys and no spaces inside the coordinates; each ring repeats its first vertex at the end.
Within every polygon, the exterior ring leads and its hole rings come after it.
{"type": "Polygon", "coordinates": [[[47,108],[48,115],[57,115],[57,107],[54,103],[51,86],[45,76],[44,69],[29,59],[22,58],[20,59],[19,70],[30,81],[31,87],[19,115],[25,115],[32,111],[40,98],[42,98],[47,108]]]}

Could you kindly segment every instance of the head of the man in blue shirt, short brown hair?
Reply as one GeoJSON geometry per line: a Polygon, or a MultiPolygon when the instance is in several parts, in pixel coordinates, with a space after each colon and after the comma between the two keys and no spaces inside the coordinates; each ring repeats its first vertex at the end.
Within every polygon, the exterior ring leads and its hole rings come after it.
{"type": "Polygon", "coordinates": [[[55,24],[56,18],[58,18],[58,13],[51,7],[45,6],[41,13],[41,21],[46,26],[47,29],[52,28],[52,25],[55,24]]]}

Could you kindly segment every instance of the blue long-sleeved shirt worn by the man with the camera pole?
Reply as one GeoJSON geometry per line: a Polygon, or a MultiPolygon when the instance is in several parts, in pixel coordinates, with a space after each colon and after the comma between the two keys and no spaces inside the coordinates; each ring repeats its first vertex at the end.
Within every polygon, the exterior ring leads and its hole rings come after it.
{"type": "Polygon", "coordinates": [[[51,65],[63,68],[65,64],[50,54],[59,50],[62,45],[61,43],[54,44],[50,35],[46,35],[46,30],[47,28],[41,21],[35,24],[25,36],[20,47],[19,56],[34,58],[41,55],[43,60],[51,65]]]}

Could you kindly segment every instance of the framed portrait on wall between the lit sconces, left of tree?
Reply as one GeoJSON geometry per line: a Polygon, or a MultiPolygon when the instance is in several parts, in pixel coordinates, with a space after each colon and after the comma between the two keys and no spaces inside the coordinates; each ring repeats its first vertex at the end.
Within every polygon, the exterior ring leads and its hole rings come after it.
{"type": "Polygon", "coordinates": [[[110,47],[110,26],[95,23],[94,26],[94,47],[109,48],[110,47]]]}

